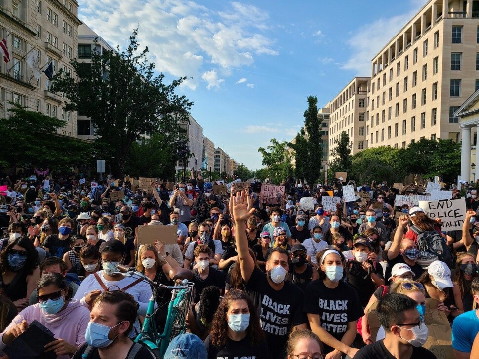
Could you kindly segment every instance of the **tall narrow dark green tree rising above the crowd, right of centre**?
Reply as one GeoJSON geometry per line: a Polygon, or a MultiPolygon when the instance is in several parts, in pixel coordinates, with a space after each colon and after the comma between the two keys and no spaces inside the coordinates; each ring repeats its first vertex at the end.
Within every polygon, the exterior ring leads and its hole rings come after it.
{"type": "Polygon", "coordinates": [[[315,183],[321,172],[322,147],[319,144],[322,144],[322,133],[317,102],[316,96],[308,96],[309,106],[303,115],[304,127],[288,144],[294,150],[296,177],[306,179],[308,183],[315,183]]]}

